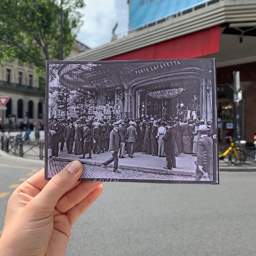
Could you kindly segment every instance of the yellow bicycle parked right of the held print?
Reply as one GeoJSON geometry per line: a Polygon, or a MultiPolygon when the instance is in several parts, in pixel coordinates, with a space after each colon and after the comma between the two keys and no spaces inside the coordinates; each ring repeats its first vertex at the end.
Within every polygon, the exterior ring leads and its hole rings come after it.
{"type": "Polygon", "coordinates": [[[235,147],[235,142],[231,136],[227,136],[224,139],[229,139],[230,146],[225,150],[224,153],[221,153],[219,150],[219,159],[224,160],[225,156],[228,155],[228,161],[230,161],[232,164],[244,164],[246,160],[246,153],[239,147],[235,147]]]}

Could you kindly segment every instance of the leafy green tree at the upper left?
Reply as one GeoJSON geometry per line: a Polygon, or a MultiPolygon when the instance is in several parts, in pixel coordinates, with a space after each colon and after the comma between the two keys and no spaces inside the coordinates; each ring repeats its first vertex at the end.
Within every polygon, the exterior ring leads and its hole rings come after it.
{"type": "Polygon", "coordinates": [[[45,73],[45,60],[60,60],[60,5],[63,53],[67,56],[82,25],[84,0],[0,1],[0,61],[18,58],[45,73]]]}

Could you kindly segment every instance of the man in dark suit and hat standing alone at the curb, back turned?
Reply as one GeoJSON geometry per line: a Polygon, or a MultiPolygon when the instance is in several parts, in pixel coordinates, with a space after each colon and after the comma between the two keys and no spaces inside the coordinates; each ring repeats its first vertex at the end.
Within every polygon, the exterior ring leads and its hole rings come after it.
{"type": "Polygon", "coordinates": [[[167,121],[168,130],[165,132],[162,139],[164,140],[164,153],[166,154],[167,166],[164,169],[172,170],[176,168],[176,160],[175,160],[175,139],[176,139],[176,131],[173,128],[173,121],[167,121]]]}

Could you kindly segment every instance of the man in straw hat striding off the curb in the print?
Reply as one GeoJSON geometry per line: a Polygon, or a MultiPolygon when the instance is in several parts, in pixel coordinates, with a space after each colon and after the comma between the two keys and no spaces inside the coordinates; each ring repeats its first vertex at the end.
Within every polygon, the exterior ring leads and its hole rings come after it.
{"type": "Polygon", "coordinates": [[[114,161],[114,172],[121,173],[118,170],[118,150],[120,148],[120,136],[118,133],[119,130],[119,122],[113,123],[113,130],[109,134],[109,150],[112,153],[112,157],[103,163],[101,167],[105,168],[106,165],[112,163],[114,161]]]}

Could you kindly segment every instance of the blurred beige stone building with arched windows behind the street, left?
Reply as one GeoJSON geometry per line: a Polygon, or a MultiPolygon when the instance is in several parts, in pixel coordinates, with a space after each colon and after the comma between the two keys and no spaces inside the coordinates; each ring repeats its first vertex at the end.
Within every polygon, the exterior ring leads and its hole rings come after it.
{"type": "MultiPolygon", "coordinates": [[[[90,49],[75,41],[70,56],[90,49]]],[[[10,97],[7,110],[0,111],[5,128],[19,128],[21,123],[44,124],[44,79],[36,73],[33,65],[25,66],[18,59],[0,66],[0,96],[10,97]]]]}

